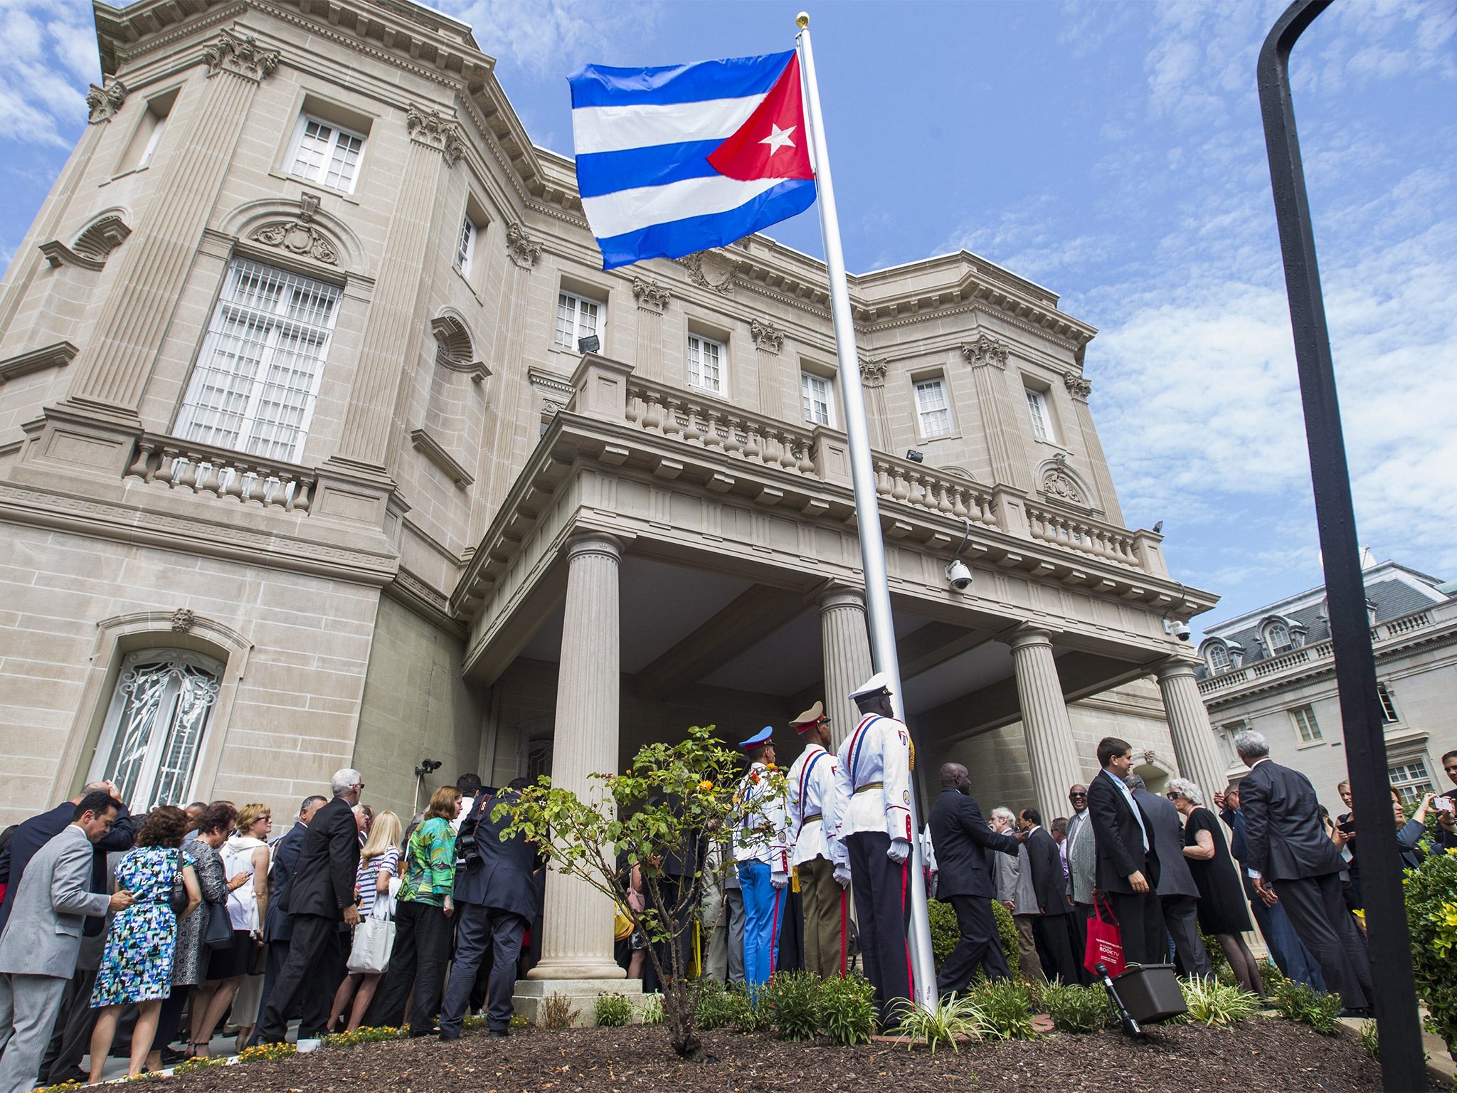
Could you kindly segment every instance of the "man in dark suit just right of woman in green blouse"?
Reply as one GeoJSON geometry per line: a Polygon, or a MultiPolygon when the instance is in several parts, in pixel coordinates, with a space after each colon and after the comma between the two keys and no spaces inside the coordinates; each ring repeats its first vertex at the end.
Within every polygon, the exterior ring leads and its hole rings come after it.
{"type": "Polygon", "coordinates": [[[440,1039],[460,1039],[460,1026],[471,1003],[476,969],[491,944],[491,982],[487,987],[488,1035],[506,1036],[511,1027],[511,995],[516,991],[516,962],[522,955],[522,934],[536,917],[538,895],[532,874],[541,869],[536,844],[525,835],[503,841],[511,825],[507,810],[530,783],[516,778],[494,799],[476,797],[472,815],[460,825],[462,838],[475,825],[469,847],[462,847],[465,864],[456,869],[455,905],[459,917],[456,960],[450,971],[450,990],[440,1007],[440,1039]],[[497,806],[507,806],[497,819],[497,806]],[[475,851],[474,854],[471,851],[475,851]]]}

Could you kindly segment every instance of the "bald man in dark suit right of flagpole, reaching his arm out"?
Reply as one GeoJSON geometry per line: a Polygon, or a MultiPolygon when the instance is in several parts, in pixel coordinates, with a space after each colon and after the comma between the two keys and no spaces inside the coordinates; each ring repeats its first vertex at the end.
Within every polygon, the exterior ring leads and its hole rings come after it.
{"type": "Polygon", "coordinates": [[[941,768],[941,796],[931,806],[931,845],[940,870],[937,899],[956,911],[960,933],[956,949],[937,975],[935,990],[943,995],[965,991],[979,965],[986,968],[988,979],[1011,978],[992,914],[997,889],[986,851],[1016,855],[1021,839],[992,831],[970,788],[966,768],[949,762],[941,768]]]}

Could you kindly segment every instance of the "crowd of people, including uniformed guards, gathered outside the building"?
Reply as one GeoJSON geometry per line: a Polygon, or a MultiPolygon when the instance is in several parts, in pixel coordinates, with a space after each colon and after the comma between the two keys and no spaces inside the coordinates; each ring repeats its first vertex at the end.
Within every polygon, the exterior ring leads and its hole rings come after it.
{"type": "MultiPolygon", "coordinates": [[[[740,829],[707,845],[704,861],[695,851],[664,863],[654,888],[678,904],[675,885],[704,876],[694,914],[702,973],[753,990],[778,969],[832,976],[858,959],[890,1023],[911,997],[912,749],[886,676],[849,698],[861,718],[833,752],[822,702],[791,721],[804,748],[782,775],[772,726],[743,740],[740,829]]],[[[995,807],[988,820],[966,768],[946,764],[922,834],[925,882],[959,928],[940,994],[965,991],[978,969],[1013,973],[995,899],[1016,924],[1017,971],[1032,981],[1090,982],[1088,922],[1106,917],[1128,963],[1208,975],[1212,937],[1238,982],[1263,994],[1243,940],[1253,922],[1288,978],[1367,1013],[1352,816],[1330,818],[1259,733],[1234,745],[1249,774],[1217,791],[1211,809],[1185,778],[1150,793],[1131,745],[1107,737],[1099,774],[1069,787],[1069,815],[1048,825],[1034,807],[995,807]]],[[[1442,767],[1457,783],[1457,752],[1442,767]]],[[[306,797],[274,837],[267,804],[162,804],[133,816],[115,786],[93,783],[7,829],[0,1093],[99,1081],[118,1039],[137,1076],[207,1055],[223,1027],[236,1030],[237,1049],[281,1042],[294,1019],[299,1039],[383,1025],[452,1041],[484,1008],[490,1035],[508,1035],[516,979],[539,953],[545,877],[541,848],[506,837],[525,786],[492,790],[463,774],[405,828],[361,804],[363,778],[341,769],[329,796],[306,797]]],[[[1340,791],[1349,807],[1349,787],[1340,791]]],[[[1410,818],[1393,790],[1393,819],[1416,866],[1423,844],[1457,847],[1457,790],[1425,794],[1410,818]]],[[[640,873],[625,873],[635,911],[647,898],[640,873]]],[[[619,962],[653,990],[634,918],[619,911],[619,962]]]]}

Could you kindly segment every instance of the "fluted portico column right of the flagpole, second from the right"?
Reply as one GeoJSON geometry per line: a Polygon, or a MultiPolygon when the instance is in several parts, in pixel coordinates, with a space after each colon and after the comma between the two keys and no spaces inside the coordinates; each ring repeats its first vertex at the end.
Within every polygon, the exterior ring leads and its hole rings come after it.
{"type": "Polygon", "coordinates": [[[1068,787],[1087,781],[1072,740],[1058,665],[1052,657],[1052,634],[1026,624],[1018,627],[1011,640],[1011,657],[1032,765],[1032,788],[1042,822],[1050,823],[1067,807],[1068,787]]]}

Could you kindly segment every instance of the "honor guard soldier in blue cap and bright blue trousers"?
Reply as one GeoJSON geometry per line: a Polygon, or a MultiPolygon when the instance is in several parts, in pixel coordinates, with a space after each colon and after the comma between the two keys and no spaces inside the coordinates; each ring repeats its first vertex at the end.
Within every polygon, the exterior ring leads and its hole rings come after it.
{"type": "Polygon", "coordinates": [[[743,981],[750,992],[774,972],[790,883],[784,783],[774,769],[772,737],[774,727],[766,726],[739,745],[749,758],[749,772],[739,784],[743,816],[733,851],[743,889],[743,981]]]}

